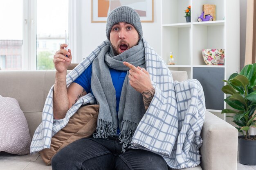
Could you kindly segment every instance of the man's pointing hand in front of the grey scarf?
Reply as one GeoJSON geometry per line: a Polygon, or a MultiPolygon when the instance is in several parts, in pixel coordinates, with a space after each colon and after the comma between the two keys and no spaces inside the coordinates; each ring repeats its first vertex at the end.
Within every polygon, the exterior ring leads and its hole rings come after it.
{"type": "Polygon", "coordinates": [[[124,62],[124,65],[130,68],[128,76],[128,78],[130,78],[129,83],[137,92],[143,93],[150,89],[154,89],[151,84],[150,74],[144,68],[139,66],[135,67],[126,61],[124,62]]]}

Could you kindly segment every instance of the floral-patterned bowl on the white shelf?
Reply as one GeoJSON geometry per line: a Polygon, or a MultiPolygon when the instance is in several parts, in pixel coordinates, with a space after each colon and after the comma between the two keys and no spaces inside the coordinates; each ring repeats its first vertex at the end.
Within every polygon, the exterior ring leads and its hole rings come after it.
{"type": "Polygon", "coordinates": [[[202,49],[202,54],[207,65],[224,65],[224,49],[202,49]]]}

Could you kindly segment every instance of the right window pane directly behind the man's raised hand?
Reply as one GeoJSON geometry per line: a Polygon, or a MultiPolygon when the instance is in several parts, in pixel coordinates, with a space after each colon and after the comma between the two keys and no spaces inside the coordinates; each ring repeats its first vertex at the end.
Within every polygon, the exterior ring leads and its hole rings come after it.
{"type": "Polygon", "coordinates": [[[53,56],[65,43],[65,30],[68,32],[68,0],[37,0],[37,70],[54,70],[53,56]]]}

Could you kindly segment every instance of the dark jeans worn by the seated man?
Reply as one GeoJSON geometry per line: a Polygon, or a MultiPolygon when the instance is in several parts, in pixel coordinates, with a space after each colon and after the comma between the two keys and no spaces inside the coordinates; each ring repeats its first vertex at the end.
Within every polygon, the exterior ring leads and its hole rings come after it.
{"type": "Polygon", "coordinates": [[[126,148],[118,137],[82,138],[61,149],[52,159],[53,170],[167,170],[164,159],[146,150],[126,148]]]}

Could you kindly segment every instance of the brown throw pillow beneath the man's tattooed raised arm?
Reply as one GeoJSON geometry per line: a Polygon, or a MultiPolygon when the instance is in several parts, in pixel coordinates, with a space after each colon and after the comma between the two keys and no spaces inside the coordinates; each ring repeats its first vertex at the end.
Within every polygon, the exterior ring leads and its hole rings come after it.
{"type": "Polygon", "coordinates": [[[70,118],[68,124],[58,131],[53,137],[50,148],[45,148],[39,153],[47,165],[51,165],[52,157],[68,144],[90,137],[97,127],[99,105],[86,105],[79,108],[70,118]]]}

